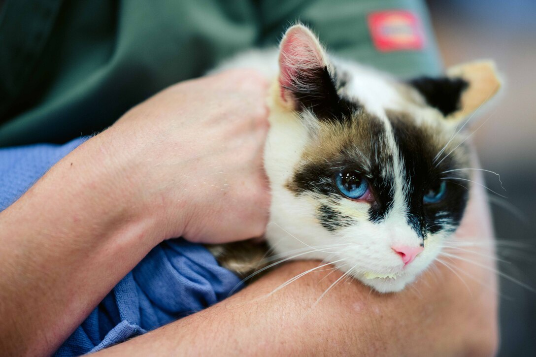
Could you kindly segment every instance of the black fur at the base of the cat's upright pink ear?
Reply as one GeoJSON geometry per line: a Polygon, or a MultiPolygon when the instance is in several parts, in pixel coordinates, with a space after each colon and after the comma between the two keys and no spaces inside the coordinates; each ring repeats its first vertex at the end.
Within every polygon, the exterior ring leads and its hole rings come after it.
{"type": "Polygon", "coordinates": [[[321,121],[348,121],[359,104],[339,96],[337,89],[345,80],[336,76],[332,78],[327,67],[300,71],[292,81],[295,85],[285,89],[292,93],[298,111],[311,110],[321,121]]]}

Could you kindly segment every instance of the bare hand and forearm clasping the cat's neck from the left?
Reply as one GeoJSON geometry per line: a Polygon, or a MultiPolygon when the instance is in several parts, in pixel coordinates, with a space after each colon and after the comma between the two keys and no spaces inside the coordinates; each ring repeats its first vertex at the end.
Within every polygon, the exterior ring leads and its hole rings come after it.
{"type": "Polygon", "coordinates": [[[266,89],[251,71],[172,86],[0,212],[1,353],[53,353],[165,239],[262,235],[266,89]]]}

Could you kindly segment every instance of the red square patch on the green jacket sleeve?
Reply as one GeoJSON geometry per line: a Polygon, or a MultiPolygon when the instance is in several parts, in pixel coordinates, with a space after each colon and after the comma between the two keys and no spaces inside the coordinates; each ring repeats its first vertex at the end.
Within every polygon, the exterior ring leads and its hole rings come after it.
{"type": "Polygon", "coordinates": [[[421,21],[413,12],[372,12],[367,20],[374,46],[379,51],[420,50],[425,46],[421,21]]]}

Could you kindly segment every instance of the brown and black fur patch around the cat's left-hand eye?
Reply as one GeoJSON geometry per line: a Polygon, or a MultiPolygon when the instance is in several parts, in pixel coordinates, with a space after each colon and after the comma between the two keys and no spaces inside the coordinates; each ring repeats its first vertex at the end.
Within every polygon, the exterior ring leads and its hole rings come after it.
{"type": "MultiPolygon", "coordinates": [[[[375,202],[370,204],[369,220],[381,222],[393,205],[395,182],[391,176],[392,148],[386,141],[385,125],[363,111],[354,113],[351,121],[338,125],[338,129],[324,127],[328,139],[319,138],[318,142],[311,143],[309,150],[306,149],[307,159],[296,169],[287,188],[296,196],[312,193],[348,199],[337,188],[334,177],[345,170],[354,170],[367,180],[375,197],[375,202]]],[[[330,218],[342,217],[336,207],[321,205],[317,216],[326,229],[328,226],[329,230],[342,227],[329,222],[330,218]]]]}

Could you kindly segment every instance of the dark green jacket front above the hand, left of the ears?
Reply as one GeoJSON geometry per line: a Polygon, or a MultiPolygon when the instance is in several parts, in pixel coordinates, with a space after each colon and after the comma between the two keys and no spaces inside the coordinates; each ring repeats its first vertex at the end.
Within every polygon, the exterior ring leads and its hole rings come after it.
{"type": "Polygon", "coordinates": [[[255,46],[248,1],[7,0],[0,146],[63,143],[255,46]]]}

